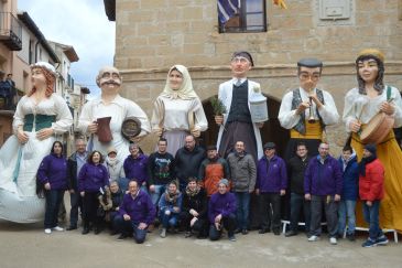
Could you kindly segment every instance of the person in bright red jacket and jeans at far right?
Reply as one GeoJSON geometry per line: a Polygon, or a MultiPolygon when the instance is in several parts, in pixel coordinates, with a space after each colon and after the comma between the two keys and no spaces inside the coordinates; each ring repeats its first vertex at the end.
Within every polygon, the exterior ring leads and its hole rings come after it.
{"type": "Polygon", "coordinates": [[[384,168],[376,151],[374,144],[366,144],[359,163],[359,196],[363,202],[365,221],[369,224],[369,238],[362,247],[388,244],[379,223],[380,202],[384,196],[384,168]]]}

